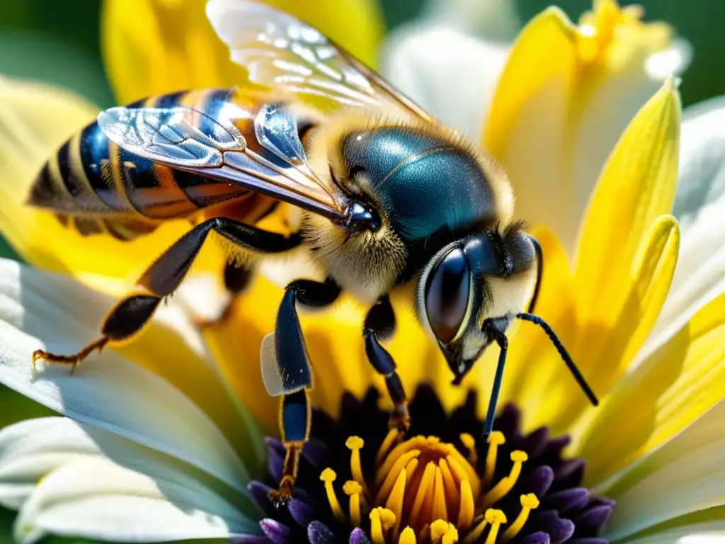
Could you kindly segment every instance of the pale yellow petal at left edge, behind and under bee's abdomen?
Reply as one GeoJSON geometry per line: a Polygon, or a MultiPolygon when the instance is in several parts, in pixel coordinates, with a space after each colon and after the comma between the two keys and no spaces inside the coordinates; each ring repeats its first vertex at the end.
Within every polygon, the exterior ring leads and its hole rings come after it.
{"type": "MultiPolygon", "coordinates": [[[[25,205],[43,162],[83,125],[96,108],[51,86],[0,81],[0,231],[28,263],[72,273],[86,284],[121,294],[146,266],[188,230],[170,222],[133,242],[110,236],[80,236],[50,213],[25,205]]],[[[220,269],[218,250],[205,248],[205,268],[220,269]]]]}

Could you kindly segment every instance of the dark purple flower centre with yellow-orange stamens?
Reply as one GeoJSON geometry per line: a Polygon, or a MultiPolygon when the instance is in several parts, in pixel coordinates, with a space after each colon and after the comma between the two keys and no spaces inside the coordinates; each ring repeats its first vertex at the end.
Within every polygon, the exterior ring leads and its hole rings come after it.
{"type": "MultiPolygon", "coordinates": [[[[362,400],[344,395],[337,420],[315,413],[289,513],[271,506],[268,485],[250,486],[265,509],[260,527],[270,540],[494,542],[500,535],[516,543],[605,543],[595,535],[613,502],[579,487],[584,462],[561,457],[566,437],[550,439],[545,427],[521,434],[521,414],[508,405],[486,444],[474,438],[484,426],[476,392],[447,413],[432,387],[422,385],[410,403],[409,438],[397,443],[397,429],[385,432],[388,414],[378,396],[375,389],[362,400]]],[[[283,456],[281,443],[268,440],[273,482],[283,456]]]]}

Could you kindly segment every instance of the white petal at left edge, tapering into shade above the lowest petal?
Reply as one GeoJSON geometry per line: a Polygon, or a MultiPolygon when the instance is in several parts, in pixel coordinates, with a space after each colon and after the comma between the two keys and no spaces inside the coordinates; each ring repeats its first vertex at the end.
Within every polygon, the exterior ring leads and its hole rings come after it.
{"type": "Polygon", "coordinates": [[[244,495],[177,458],[63,417],[30,419],[0,431],[0,505],[17,510],[46,474],[67,463],[91,458],[110,458],[152,477],[168,477],[179,471],[193,473],[204,485],[236,501],[245,511],[256,511],[244,495]]]}

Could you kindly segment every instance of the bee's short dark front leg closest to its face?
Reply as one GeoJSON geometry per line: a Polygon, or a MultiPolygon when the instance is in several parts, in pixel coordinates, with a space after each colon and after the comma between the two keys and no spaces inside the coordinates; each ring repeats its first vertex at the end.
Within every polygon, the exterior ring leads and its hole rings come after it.
{"type": "Polygon", "coordinates": [[[390,304],[389,297],[382,297],[373,308],[370,308],[368,316],[365,318],[365,328],[363,330],[365,353],[368,355],[368,360],[376,372],[385,376],[385,385],[393,401],[393,411],[390,414],[388,426],[398,429],[402,438],[410,427],[408,400],[405,395],[405,388],[395,371],[396,366],[392,355],[378,342],[378,337],[386,339],[392,336],[394,330],[395,313],[393,307],[390,304]]]}

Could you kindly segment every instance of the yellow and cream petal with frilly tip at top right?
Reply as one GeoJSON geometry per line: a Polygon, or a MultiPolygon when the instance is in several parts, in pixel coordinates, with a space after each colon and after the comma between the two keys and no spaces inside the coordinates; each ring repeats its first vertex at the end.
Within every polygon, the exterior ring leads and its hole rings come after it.
{"type": "Polygon", "coordinates": [[[608,153],[658,86],[645,62],[670,39],[666,25],[597,1],[579,27],[547,9],[513,45],[484,145],[508,172],[517,215],[552,228],[568,255],[608,153]]]}

